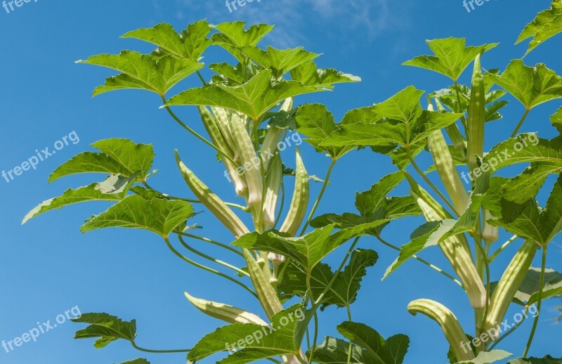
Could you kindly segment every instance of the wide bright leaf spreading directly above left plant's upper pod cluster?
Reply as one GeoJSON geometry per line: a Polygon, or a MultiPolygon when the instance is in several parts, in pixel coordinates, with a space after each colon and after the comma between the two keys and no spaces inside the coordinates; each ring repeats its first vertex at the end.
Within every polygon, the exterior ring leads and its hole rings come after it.
{"type": "Polygon", "coordinates": [[[271,70],[263,70],[242,86],[216,84],[190,89],[172,97],[166,106],[218,106],[243,112],[252,119],[258,120],[285,98],[322,91],[294,81],[272,82],[271,76],[271,70]]]}

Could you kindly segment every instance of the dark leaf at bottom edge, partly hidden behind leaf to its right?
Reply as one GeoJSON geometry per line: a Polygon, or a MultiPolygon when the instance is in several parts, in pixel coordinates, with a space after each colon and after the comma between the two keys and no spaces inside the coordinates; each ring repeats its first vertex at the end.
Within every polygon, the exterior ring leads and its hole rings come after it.
{"type": "MultiPolygon", "coordinates": [[[[349,343],[336,339],[334,337],[326,337],[320,345],[315,345],[314,357],[311,362],[321,364],[341,364],[348,363],[349,343]]],[[[360,346],[351,345],[351,361],[350,364],[370,363],[365,356],[366,351],[360,346]]],[[[310,351],[306,353],[310,357],[310,351]]]]}

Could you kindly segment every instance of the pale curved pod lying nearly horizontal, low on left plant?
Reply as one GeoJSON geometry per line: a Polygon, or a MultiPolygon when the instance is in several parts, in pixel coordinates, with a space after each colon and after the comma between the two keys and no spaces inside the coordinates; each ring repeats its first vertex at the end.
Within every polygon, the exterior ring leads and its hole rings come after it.
{"type": "Polygon", "coordinates": [[[207,301],[207,299],[195,298],[188,294],[188,292],[185,292],[185,297],[199,311],[211,317],[218,318],[218,320],[223,320],[227,323],[255,323],[256,325],[268,325],[264,320],[259,318],[259,316],[254,315],[254,313],[244,311],[241,308],[236,308],[228,304],[219,304],[214,301],[207,301]]]}

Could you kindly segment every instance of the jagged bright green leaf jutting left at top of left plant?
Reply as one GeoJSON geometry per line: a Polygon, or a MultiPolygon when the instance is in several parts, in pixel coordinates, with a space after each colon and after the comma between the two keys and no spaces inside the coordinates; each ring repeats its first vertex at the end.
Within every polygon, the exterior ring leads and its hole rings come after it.
{"type": "Polygon", "coordinates": [[[122,89],[143,89],[160,96],[185,77],[203,68],[197,60],[186,60],[173,56],[155,59],[148,54],[122,51],[119,54],[100,54],[77,63],[108,67],[122,72],[105,80],[103,86],[93,91],[93,96],[122,89]]]}

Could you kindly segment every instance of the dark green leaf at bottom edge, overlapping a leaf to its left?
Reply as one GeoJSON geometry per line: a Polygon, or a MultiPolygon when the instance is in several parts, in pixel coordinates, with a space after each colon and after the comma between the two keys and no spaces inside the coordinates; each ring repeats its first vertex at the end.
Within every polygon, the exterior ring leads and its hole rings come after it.
{"type": "Polygon", "coordinates": [[[377,331],[362,323],[346,321],[337,326],[337,330],[353,344],[366,349],[363,357],[365,363],[402,364],[406,356],[410,339],[403,334],[384,339],[377,331]]]}

